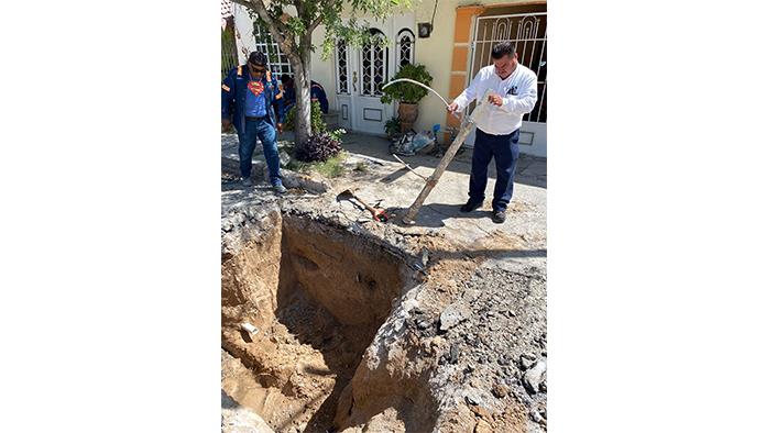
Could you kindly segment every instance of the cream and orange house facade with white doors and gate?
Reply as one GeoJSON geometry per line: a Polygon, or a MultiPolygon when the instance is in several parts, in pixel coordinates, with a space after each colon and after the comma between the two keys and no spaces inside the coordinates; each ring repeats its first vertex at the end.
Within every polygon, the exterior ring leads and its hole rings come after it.
{"type": "MultiPolygon", "coordinates": [[[[384,21],[366,19],[371,32],[387,37],[391,42],[387,46],[358,48],[341,42],[327,60],[321,59],[317,49],[311,57],[311,79],[325,87],[330,109],[339,113],[343,127],[383,135],[385,122],[396,115],[396,107],[381,103],[380,87],[402,65],[425,65],[434,77],[430,87],[451,100],[481,67],[491,64],[492,45],[513,41],[519,62],[538,77],[538,102],[524,118],[519,147],[524,153],[546,156],[546,10],[545,1],[423,0],[415,11],[402,11],[384,21]]],[[[263,29],[253,29],[252,19],[243,8],[234,5],[233,14],[240,62],[251,51],[259,49],[270,54],[274,73],[289,74],[289,64],[271,35],[263,29]]],[[[319,45],[324,37],[324,27],[319,26],[314,33],[315,44],[319,45]]],[[[459,122],[447,115],[438,97],[429,93],[418,109],[416,130],[431,130],[439,124],[442,142],[457,133],[459,122]]],[[[472,146],[473,134],[466,143],[472,146]]]]}

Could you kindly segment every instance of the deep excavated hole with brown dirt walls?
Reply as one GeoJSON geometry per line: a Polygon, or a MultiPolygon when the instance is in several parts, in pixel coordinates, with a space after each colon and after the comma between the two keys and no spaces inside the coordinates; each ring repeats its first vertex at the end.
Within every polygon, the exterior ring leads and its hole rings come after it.
{"type": "Polygon", "coordinates": [[[325,432],[411,273],[360,235],[276,212],[262,225],[222,264],[222,387],[277,432],[325,432]]]}

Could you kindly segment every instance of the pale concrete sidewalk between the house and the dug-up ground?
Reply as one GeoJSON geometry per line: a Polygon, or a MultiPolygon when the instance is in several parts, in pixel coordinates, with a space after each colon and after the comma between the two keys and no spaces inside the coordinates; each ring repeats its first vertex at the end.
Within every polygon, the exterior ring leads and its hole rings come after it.
{"type": "MultiPolygon", "coordinates": [[[[292,136],[283,134],[280,140],[292,136]]],[[[236,136],[234,136],[236,140],[236,136]]],[[[221,140],[222,155],[238,158],[236,145],[231,138],[221,140]]],[[[343,136],[343,148],[349,152],[346,162],[348,174],[332,179],[337,192],[353,189],[362,199],[389,209],[390,213],[402,215],[412,204],[424,180],[403,168],[402,164],[389,154],[389,142],[385,138],[349,133],[343,136]],[[377,164],[371,160],[379,162],[377,164]],[[354,168],[365,166],[364,173],[354,168]]],[[[260,157],[262,158],[262,156],[260,157]]],[[[444,231],[450,238],[470,246],[471,254],[486,255],[495,260],[503,260],[504,267],[534,266],[545,268],[547,255],[546,235],[546,189],[545,158],[523,156],[524,170],[519,174],[514,186],[514,197],[508,207],[507,220],[504,224],[495,224],[491,220],[491,197],[494,188],[495,173],[490,166],[488,199],[483,207],[471,213],[459,211],[468,199],[468,181],[471,171],[471,151],[458,155],[442,175],[439,184],[426,200],[417,219],[417,225],[444,231]],[[541,174],[541,175],[540,175],[541,174]],[[543,180],[540,180],[540,177],[543,180]],[[501,235],[497,237],[497,235],[501,235]],[[482,242],[492,245],[482,248],[482,242]],[[497,242],[497,240],[501,242],[497,242]]],[[[259,157],[253,158],[260,164],[259,157]]],[[[428,177],[439,158],[433,156],[402,157],[416,173],[428,177]]],[[[239,200],[264,200],[269,197],[267,186],[256,185],[253,191],[244,191],[237,184],[223,188],[222,204],[236,206],[239,200]]],[[[338,204],[350,218],[365,219],[368,213],[355,209],[348,202],[338,204]]]]}

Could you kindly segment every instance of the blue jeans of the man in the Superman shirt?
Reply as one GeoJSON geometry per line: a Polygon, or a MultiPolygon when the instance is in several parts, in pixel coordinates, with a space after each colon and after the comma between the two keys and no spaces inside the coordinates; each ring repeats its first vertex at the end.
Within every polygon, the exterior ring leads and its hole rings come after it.
{"type": "Polygon", "coordinates": [[[266,158],[269,166],[269,177],[271,184],[282,185],[282,175],[280,174],[280,153],[276,149],[276,130],[271,123],[263,120],[245,120],[244,132],[238,131],[240,141],[240,173],[242,178],[250,178],[250,171],[253,168],[253,151],[255,151],[256,140],[263,143],[263,155],[266,158]]]}

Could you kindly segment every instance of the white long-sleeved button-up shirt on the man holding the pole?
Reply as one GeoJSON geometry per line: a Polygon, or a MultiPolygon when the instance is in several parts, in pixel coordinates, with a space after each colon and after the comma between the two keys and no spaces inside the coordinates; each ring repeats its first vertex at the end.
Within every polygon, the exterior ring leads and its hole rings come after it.
{"type": "Polygon", "coordinates": [[[537,103],[537,75],[518,64],[513,74],[501,79],[494,65],[485,66],[468,89],[455,99],[457,111],[464,110],[477,98],[480,98],[480,106],[473,110],[477,127],[492,135],[510,134],[522,127],[522,116],[537,103]],[[497,107],[486,102],[491,93],[503,97],[503,104],[497,107]]]}

